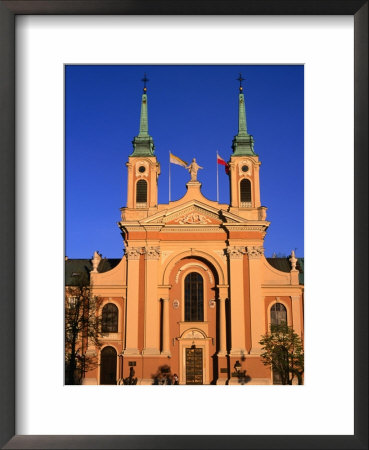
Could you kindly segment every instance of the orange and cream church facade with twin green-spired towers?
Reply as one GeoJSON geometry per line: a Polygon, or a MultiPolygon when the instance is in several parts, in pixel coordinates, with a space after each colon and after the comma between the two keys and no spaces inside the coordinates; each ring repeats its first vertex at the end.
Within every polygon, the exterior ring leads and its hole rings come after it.
{"type": "Polygon", "coordinates": [[[273,384],[259,341],[281,318],[303,339],[302,261],[293,252],[283,261],[264,256],[270,222],[260,201],[261,163],[247,131],[242,87],[228,162],[229,204],[203,196],[196,161],[188,167],[184,197],[158,203],[160,164],[148,131],[147,96],[145,87],[140,131],[126,164],[127,202],[119,222],[124,256],[103,272],[97,252],[90,263],[105,329],[100,348],[87,344],[99,364],[82,383],[119,384],[131,376],[153,384],[158,370],[169,367],[178,384],[238,384],[240,369],[249,384],[273,384]]]}

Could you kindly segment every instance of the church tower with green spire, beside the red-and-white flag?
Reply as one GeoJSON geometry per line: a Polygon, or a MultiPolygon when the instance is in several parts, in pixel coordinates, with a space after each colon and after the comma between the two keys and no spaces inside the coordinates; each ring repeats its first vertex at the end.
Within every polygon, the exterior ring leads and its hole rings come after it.
{"type": "Polygon", "coordinates": [[[232,142],[229,162],[231,210],[242,216],[261,207],[258,155],[254,152],[254,138],[247,132],[245,96],[242,75],[238,94],[238,133],[232,142]]]}

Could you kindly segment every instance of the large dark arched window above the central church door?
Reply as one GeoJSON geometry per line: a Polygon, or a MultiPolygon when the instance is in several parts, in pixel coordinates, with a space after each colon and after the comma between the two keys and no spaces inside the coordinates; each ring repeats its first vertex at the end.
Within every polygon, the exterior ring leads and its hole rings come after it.
{"type": "Polygon", "coordinates": [[[185,321],[202,322],[204,320],[204,282],[197,272],[189,273],[185,278],[185,321]]]}

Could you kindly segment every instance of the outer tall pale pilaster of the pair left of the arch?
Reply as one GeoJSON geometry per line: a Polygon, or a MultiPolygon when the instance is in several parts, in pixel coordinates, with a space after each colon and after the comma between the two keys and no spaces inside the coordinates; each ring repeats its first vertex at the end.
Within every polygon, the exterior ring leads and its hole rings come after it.
{"type": "Polygon", "coordinates": [[[138,355],[138,287],[141,247],[129,247],[127,255],[127,319],[125,355],[138,355]]]}

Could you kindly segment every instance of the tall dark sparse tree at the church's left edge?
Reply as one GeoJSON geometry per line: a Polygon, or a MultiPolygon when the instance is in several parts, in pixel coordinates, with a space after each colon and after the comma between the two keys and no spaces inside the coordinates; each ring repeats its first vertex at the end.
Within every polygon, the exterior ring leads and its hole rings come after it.
{"type": "Polygon", "coordinates": [[[86,354],[87,344],[101,347],[101,303],[91,295],[88,275],[78,273],[65,292],[65,383],[80,384],[84,374],[98,364],[86,354]]]}

